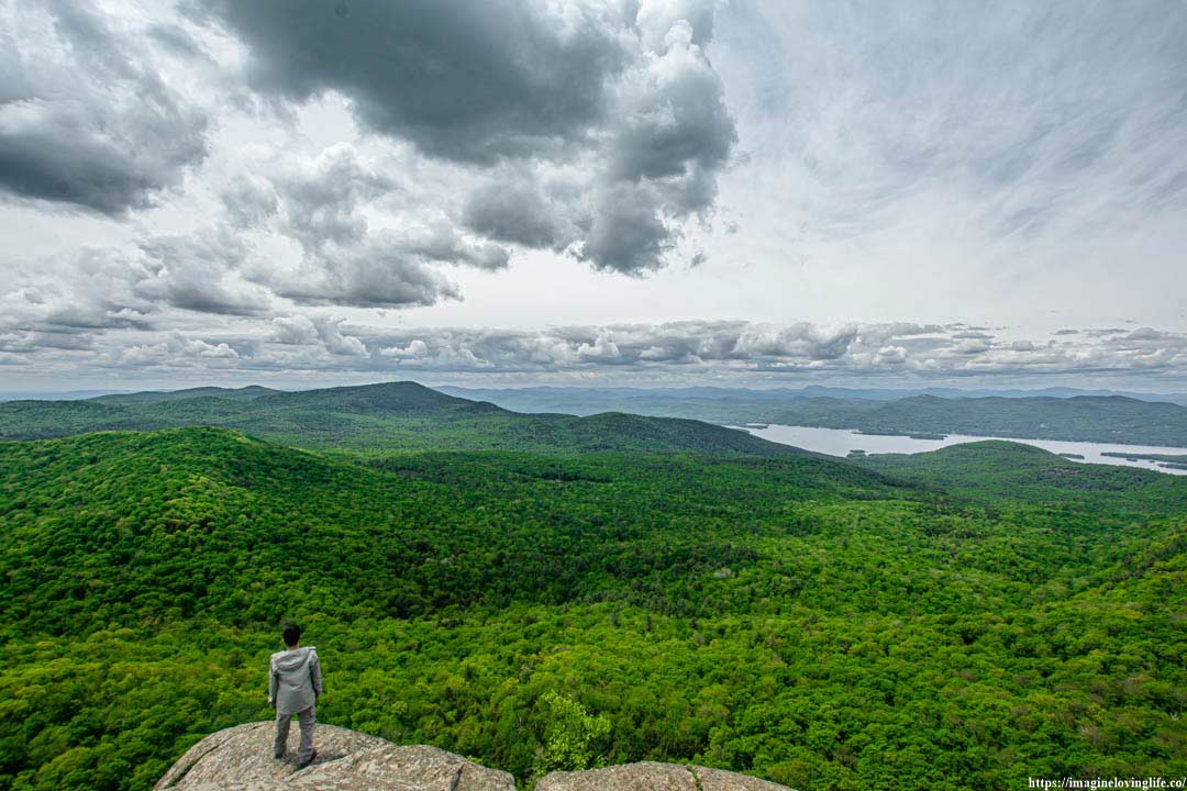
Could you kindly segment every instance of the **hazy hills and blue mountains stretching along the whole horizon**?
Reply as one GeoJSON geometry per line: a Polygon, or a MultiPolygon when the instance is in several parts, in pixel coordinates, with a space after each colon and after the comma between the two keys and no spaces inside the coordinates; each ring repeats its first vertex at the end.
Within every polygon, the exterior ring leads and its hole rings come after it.
{"type": "Polygon", "coordinates": [[[388,382],[299,391],[205,387],[0,403],[0,439],[15,440],[224,426],[300,447],[372,453],[792,452],[726,428],[741,423],[1187,447],[1187,407],[1118,395],[915,395],[888,401],[723,388],[434,390],[388,382]]]}

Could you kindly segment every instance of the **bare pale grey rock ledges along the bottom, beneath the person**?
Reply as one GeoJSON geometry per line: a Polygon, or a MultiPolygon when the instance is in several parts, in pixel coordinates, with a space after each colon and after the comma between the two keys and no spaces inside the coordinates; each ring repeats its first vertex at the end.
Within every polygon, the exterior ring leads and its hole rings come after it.
{"type": "MultiPolygon", "coordinates": [[[[165,773],[154,791],[515,791],[507,772],[436,747],[400,746],[330,725],[317,726],[317,759],[297,768],[297,728],[288,755],[272,757],[272,722],[212,733],[165,773]]],[[[703,766],[624,764],[553,772],[537,791],[787,791],[786,786],[703,766]]]]}

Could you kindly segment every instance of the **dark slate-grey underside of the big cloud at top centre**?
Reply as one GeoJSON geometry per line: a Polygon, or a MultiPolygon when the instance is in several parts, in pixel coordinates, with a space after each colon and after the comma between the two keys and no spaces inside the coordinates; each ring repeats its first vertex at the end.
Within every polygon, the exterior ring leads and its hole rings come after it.
{"type": "Polygon", "coordinates": [[[262,93],[349,96],[369,129],[490,164],[585,136],[629,59],[612,7],[521,0],[207,0],[262,93]]]}

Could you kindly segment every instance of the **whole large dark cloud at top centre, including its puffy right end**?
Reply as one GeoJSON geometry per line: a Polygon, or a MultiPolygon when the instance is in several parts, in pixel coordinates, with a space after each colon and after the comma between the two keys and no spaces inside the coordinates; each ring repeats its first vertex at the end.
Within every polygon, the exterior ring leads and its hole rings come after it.
{"type": "MultiPolygon", "coordinates": [[[[326,91],[360,123],[427,154],[491,167],[463,222],[565,249],[598,269],[658,269],[705,218],[737,140],[703,47],[711,0],[546,4],[205,0],[247,44],[252,84],[281,102],[326,91]],[[544,190],[560,167],[569,190],[544,190]]],[[[309,234],[349,234],[349,225],[309,234]]]]}

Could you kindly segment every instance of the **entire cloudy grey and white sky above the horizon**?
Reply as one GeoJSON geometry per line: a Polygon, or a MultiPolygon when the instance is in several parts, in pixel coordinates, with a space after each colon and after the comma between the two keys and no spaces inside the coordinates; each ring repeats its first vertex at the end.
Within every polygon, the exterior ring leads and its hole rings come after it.
{"type": "Polygon", "coordinates": [[[0,0],[0,390],[1187,390],[1187,2],[0,0]]]}

